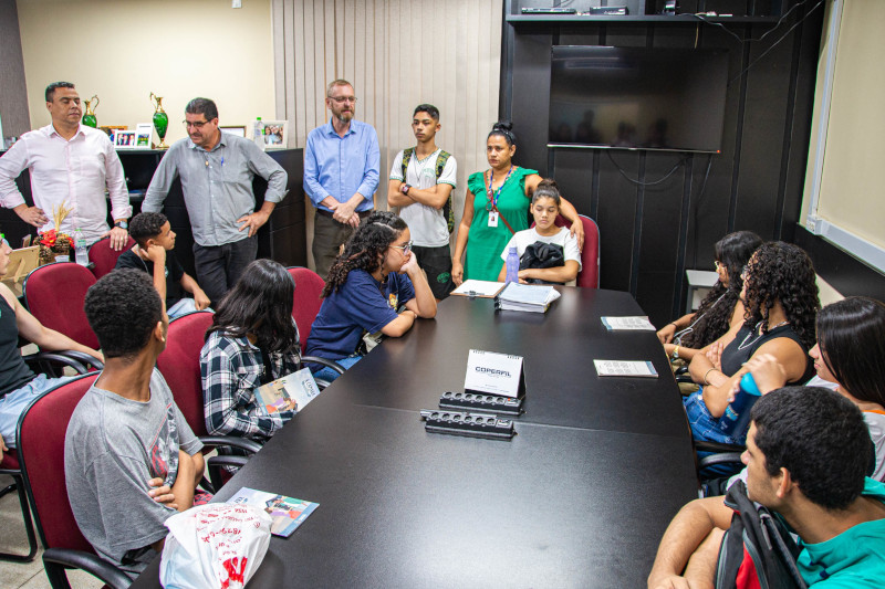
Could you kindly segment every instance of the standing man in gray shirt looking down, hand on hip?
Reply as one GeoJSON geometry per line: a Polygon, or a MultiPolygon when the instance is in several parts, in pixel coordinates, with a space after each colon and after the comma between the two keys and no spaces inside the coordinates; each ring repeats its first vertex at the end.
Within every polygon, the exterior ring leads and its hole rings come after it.
{"type": "Polygon", "coordinates": [[[159,212],[175,177],[181,177],[197,282],[217,305],[256,259],[256,233],[285,197],[289,177],[251,140],[221,133],[218,107],[208,98],[187,104],[185,127],[189,138],[176,141],[160,160],[142,210],[159,212]],[[268,181],[264,203],[257,211],[256,175],[268,181]]]}

